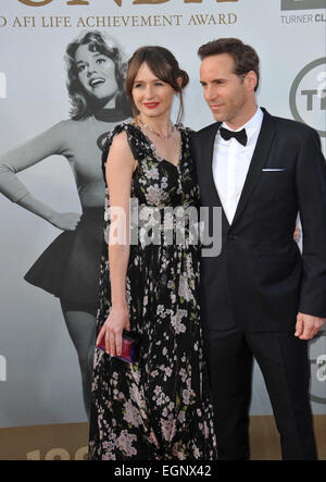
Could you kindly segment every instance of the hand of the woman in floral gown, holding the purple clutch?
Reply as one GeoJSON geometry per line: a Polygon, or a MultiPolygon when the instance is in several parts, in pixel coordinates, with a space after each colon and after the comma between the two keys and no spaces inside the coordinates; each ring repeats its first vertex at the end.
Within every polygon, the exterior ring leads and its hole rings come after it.
{"type": "Polygon", "coordinates": [[[97,338],[97,345],[101,341],[105,342],[105,351],[111,357],[120,356],[122,354],[122,333],[124,330],[130,330],[129,312],[127,305],[115,308],[112,307],[102,330],[97,338]]]}

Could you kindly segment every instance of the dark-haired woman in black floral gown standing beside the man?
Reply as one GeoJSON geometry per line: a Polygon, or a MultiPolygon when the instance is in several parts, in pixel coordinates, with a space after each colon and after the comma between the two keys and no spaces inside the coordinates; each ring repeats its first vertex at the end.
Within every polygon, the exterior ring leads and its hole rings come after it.
{"type": "Polygon", "coordinates": [[[138,49],[126,78],[135,120],[103,151],[97,344],[105,351],[95,358],[90,459],[217,457],[198,305],[199,189],[189,129],[170,121],[187,83],[168,50],[138,49]],[[116,357],[123,330],[140,337],[134,363],[116,357]]]}

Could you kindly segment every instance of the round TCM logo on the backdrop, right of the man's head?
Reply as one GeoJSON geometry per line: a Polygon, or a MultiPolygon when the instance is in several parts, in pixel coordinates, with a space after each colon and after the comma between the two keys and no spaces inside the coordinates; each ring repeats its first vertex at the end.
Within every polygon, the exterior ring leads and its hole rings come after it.
{"type": "Polygon", "coordinates": [[[310,62],[299,72],[290,90],[290,109],[297,121],[326,137],[326,57],[310,62]]]}

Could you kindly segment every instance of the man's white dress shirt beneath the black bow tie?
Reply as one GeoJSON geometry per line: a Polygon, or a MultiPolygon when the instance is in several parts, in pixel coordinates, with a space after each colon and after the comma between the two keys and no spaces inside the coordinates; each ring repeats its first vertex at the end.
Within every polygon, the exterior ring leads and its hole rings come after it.
{"type": "MultiPolygon", "coordinates": [[[[250,121],[237,129],[242,131],[242,128],[246,128],[248,138],[246,146],[242,146],[234,137],[229,140],[223,139],[220,129],[215,136],[212,165],[213,177],[229,224],[231,224],[237,210],[258,136],[261,131],[263,116],[263,111],[261,108],[258,108],[250,121]]],[[[223,123],[221,127],[233,131],[225,123],[223,123]]]]}

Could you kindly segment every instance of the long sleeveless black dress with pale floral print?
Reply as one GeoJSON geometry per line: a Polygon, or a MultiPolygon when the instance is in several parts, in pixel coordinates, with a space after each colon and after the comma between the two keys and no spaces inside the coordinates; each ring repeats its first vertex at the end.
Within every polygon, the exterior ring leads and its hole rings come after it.
{"type": "MultiPolygon", "coordinates": [[[[184,223],[184,237],[176,244],[181,218],[174,208],[197,211],[199,200],[189,129],[180,127],[181,149],[175,166],[156,155],[138,127],[121,124],[106,139],[103,172],[112,140],[123,131],[138,161],[130,196],[138,242],[130,243],[126,286],[130,330],[141,337],[140,356],[130,364],[96,349],[89,458],[215,459],[198,305],[200,248],[189,224],[184,223]]],[[[98,329],[110,311],[109,217],[106,188],[98,329]]]]}

